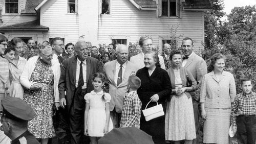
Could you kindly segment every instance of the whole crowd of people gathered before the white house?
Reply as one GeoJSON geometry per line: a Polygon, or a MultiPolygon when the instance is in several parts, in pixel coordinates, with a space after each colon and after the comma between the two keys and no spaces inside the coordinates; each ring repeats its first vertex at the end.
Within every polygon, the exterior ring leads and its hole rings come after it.
{"type": "Polygon", "coordinates": [[[139,45],[141,53],[129,58],[123,44],[64,45],[56,37],[35,46],[33,39],[24,45],[0,35],[0,143],[57,137],[57,143],[94,144],[124,127],[141,129],[154,143],[228,143],[230,128],[239,143],[255,143],[256,93],[246,77],[236,96],[225,56],[213,55],[207,73],[191,38],[181,50],[164,44],[160,55],[151,37],[140,37],[139,45]],[[164,115],[147,121],[142,110],[159,104],[164,115]],[[17,113],[22,108],[29,111],[17,113]]]}

